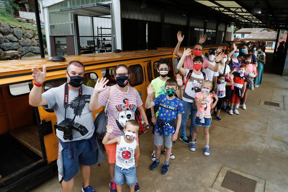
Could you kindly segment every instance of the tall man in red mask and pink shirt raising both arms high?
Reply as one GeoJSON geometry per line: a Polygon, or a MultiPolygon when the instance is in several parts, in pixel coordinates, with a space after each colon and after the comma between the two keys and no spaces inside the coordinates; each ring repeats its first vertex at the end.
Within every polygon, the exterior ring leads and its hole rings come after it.
{"type": "MultiPolygon", "coordinates": [[[[207,37],[207,36],[206,36],[205,34],[202,35],[202,36],[200,36],[199,43],[196,43],[196,44],[194,45],[194,47],[193,47],[193,53],[192,53],[192,55],[189,55],[189,56],[187,56],[187,57],[185,58],[185,60],[184,60],[184,66],[183,66],[185,69],[193,70],[193,69],[194,69],[194,66],[193,66],[193,58],[194,58],[195,56],[202,56],[202,57],[204,56],[204,55],[202,54],[202,48],[203,48],[202,43],[204,43],[204,42],[206,41],[206,37],[207,37]]],[[[181,31],[178,31],[178,33],[177,33],[177,39],[178,39],[178,43],[177,43],[177,45],[176,45],[176,47],[175,47],[174,54],[177,55],[177,56],[181,59],[181,57],[183,56],[183,54],[179,52],[179,47],[180,47],[181,42],[182,42],[183,39],[184,39],[184,35],[182,36],[181,31]]],[[[223,48],[223,47],[219,47],[218,50],[217,50],[217,53],[221,52],[222,48],[223,48]]],[[[203,64],[202,64],[202,68],[203,68],[203,69],[207,69],[207,68],[208,68],[208,69],[211,69],[212,71],[218,72],[218,70],[219,70],[219,62],[220,62],[220,60],[224,57],[224,55],[225,55],[224,53],[220,53],[217,57],[215,57],[215,61],[216,61],[215,66],[213,66],[212,64],[210,64],[210,63],[204,58],[204,62],[203,62],[203,64]]]]}

